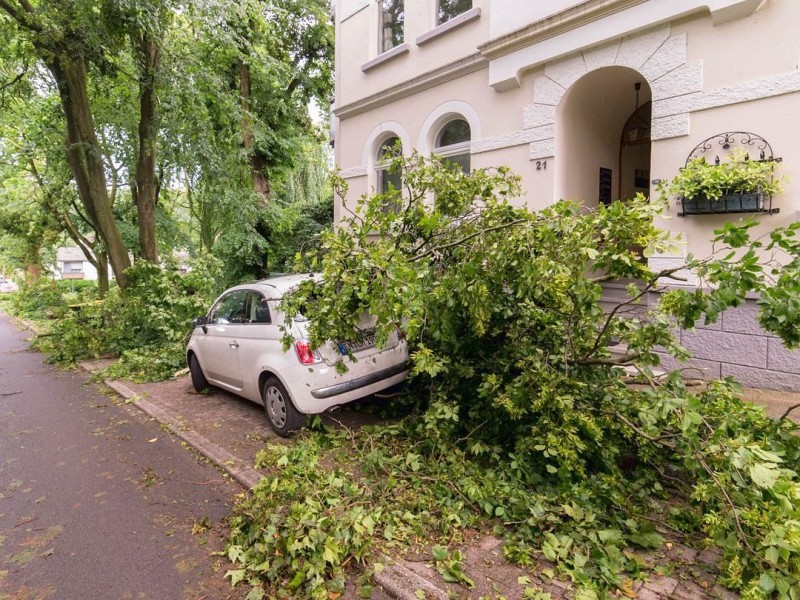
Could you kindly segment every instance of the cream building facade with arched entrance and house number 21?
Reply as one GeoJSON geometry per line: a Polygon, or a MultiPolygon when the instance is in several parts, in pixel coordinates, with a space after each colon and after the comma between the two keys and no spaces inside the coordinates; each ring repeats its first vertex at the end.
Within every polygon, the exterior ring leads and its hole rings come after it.
{"type": "MultiPolygon", "coordinates": [[[[508,165],[533,209],[654,194],[693,152],[724,160],[732,145],[781,160],[788,183],[760,229],[800,218],[800,0],[336,0],[335,18],[332,127],[352,197],[386,185],[395,139],[465,168],[508,165]]],[[[654,268],[708,254],[742,216],[683,212],[673,202],[659,223],[683,252],[654,268]]],[[[755,312],[683,332],[692,364],[800,390],[800,355],[755,312]]]]}

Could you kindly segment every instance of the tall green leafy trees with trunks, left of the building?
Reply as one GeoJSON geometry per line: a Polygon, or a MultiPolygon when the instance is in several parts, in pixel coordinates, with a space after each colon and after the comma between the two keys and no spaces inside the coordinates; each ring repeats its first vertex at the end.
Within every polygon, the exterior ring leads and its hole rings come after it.
{"type": "Polygon", "coordinates": [[[131,257],[176,249],[268,268],[274,189],[325,164],[309,105],[331,92],[327,2],[0,0],[0,33],[3,210],[34,199],[123,288],[131,257]]]}

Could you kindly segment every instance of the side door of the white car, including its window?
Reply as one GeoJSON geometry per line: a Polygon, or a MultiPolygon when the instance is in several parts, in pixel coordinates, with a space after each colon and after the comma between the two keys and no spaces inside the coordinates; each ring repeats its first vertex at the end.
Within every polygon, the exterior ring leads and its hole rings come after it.
{"type": "Polygon", "coordinates": [[[242,389],[239,338],[248,322],[247,290],[222,296],[208,315],[201,364],[209,381],[234,391],[242,389]]]}

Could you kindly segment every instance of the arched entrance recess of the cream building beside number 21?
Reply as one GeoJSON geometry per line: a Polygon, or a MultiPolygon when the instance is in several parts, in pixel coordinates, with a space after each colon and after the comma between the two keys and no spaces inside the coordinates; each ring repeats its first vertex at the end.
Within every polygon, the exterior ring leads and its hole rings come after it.
{"type": "Polygon", "coordinates": [[[627,67],[587,73],[556,111],[555,196],[586,206],[649,193],[650,86],[627,67]]]}

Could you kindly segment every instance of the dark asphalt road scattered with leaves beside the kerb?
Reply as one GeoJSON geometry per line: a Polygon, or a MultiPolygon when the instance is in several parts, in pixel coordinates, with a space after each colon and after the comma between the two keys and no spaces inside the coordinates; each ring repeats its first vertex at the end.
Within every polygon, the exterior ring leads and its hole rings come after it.
{"type": "Polygon", "coordinates": [[[0,600],[226,598],[239,492],[0,314],[0,600]]]}

